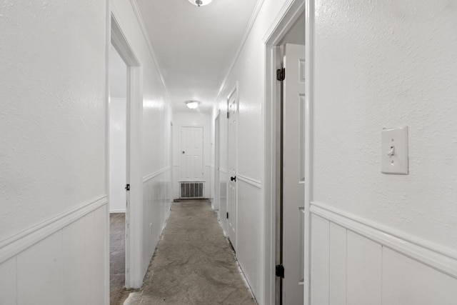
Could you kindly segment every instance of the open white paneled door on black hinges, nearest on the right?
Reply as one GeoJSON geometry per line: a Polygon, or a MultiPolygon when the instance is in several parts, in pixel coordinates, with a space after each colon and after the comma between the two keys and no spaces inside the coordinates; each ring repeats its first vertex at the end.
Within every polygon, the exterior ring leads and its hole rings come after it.
{"type": "Polygon", "coordinates": [[[303,304],[305,47],[286,44],[283,66],[283,304],[303,304]]]}

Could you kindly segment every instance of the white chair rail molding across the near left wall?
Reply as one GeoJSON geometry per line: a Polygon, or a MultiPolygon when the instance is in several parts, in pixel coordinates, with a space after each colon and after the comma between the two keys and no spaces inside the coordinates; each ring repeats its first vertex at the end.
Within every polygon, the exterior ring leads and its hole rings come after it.
{"type": "Polygon", "coordinates": [[[19,234],[0,241],[0,264],[105,204],[108,204],[106,195],[69,209],[41,224],[31,226],[19,234]]]}

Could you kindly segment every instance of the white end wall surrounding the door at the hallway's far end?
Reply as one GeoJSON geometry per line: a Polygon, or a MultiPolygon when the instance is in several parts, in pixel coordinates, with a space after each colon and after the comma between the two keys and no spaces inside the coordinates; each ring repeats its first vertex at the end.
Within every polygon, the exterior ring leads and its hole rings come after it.
{"type": "MultiPolygon", "coordinates": [[[[198,111],[198,110],[196,110],[198,111]]],[[[211,199],[213,190],[211,189],[211,115],[199,112],[184,113],[179,112],[173,116],[173,190],[174,198],[179,198],[179,176],[181,173],[181,126],[203,126],[204,128],[204,181],[205,181],[205,197],[211,199]]]]}

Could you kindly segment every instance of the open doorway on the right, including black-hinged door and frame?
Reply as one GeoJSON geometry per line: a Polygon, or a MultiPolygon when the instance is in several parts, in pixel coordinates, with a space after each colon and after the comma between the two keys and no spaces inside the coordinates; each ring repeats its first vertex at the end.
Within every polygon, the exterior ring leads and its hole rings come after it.
{"type": "Polygon", "coordinates": [[[270,304],[303,304],[306,276],[305,14],[293,1],[266,36],[266,283],[270,304]]]}

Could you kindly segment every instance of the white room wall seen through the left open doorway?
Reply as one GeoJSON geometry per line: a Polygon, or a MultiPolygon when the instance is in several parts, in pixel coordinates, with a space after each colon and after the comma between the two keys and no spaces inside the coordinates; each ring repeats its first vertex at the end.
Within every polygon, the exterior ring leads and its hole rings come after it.
{"type": "Polygon", "coordinates": [[[126,211],[127,66],[111,45],[109,53],[109,211],[126,211]]]}

